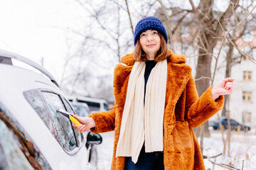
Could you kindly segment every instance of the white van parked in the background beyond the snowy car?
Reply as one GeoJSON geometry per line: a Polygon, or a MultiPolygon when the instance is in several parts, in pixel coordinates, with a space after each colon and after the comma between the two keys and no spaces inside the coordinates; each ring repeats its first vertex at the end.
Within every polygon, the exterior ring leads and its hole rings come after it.
{"type": "Polygon", "coordinates": [[[68,99],[70,102],[86,103],[90,108],[90,113],[108,111],[107,101],[101,98],[90,98],[84,96],[71,97],[68,99]]]}

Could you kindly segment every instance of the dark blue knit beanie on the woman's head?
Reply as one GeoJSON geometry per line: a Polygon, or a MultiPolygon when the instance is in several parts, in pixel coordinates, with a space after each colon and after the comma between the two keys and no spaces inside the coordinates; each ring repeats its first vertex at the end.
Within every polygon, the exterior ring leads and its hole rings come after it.
{"type": "Polygon", "coordinates": [[[154,16],[148,16],[146,18],[142,18],[142,20],[140,20],[135,27],[134,45],[139,39],[139,36],[145,30],[157,30],[159,33],[161,33],[161,35],[164,36],[164,40],[166,40],[167,44],[168,38],[163,23],[159,20],[159,18],[156,18],[154,16]]]}

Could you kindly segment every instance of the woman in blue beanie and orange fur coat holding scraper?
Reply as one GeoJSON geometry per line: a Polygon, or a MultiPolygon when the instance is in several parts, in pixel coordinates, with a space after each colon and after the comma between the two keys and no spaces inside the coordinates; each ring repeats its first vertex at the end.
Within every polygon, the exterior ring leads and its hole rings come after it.
{"type": "Polygon", "coordinates": [[[114,109],[74,115],[83,124],[73,125],[80,132],[114,130],[111,169],[205,169],[192,128],[220,111],[234,79],[198,98],[186,57],[168,50],[167,42],[158,18],[139,21],[134,52],[114,69],[114,109]]]}

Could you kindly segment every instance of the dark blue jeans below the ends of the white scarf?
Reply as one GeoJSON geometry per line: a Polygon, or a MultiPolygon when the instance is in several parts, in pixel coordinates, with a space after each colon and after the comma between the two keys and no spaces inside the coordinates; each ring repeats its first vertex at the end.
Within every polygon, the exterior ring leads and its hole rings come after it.
{"type": "Polygon", "coordinates": [[[145,153],[143,145],[136,164],[132,162],[132,157],[125,158],[124,170],[164,170],[164,154],[163,152],[145,153]]]}

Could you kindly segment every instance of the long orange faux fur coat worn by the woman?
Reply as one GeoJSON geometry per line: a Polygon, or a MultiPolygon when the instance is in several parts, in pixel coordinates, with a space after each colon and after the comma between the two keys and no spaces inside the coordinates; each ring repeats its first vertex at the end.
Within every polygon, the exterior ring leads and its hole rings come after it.
{"type": "MultiPolygon", "coordinates": [[[[165,169],[192,170],[205,169],[200,147],[192,128],[198,128],[212,115],[223,108],[223,96],[216,101],[209,87],[198,98],[196,86],[191,76],[191,67],[185,64],[184,55],[176,55],[171,50],[167,59],[167,86],[164,110],[164,167],[165,169]]],[[[95,120],[93,133],[114,130],[114,150],[111,169],[124,169],[124,157],[115,157],[122,122],[129,74],[134,59],[132,54],[122,57],[114,69],[114,109],[92,113],[95,120]]]]}

